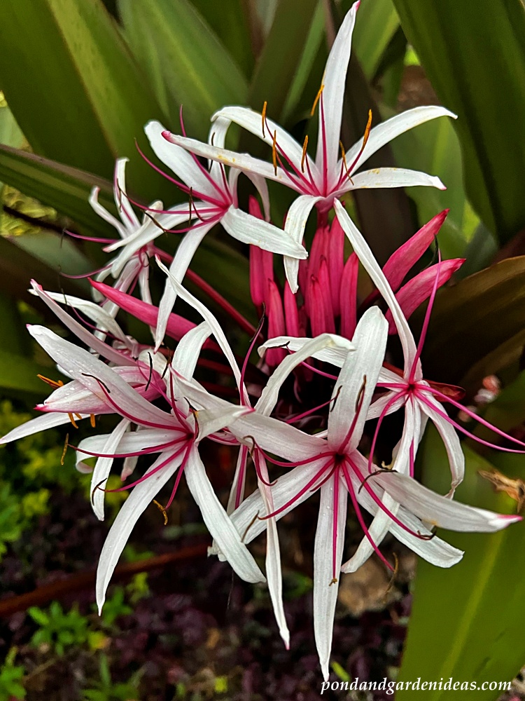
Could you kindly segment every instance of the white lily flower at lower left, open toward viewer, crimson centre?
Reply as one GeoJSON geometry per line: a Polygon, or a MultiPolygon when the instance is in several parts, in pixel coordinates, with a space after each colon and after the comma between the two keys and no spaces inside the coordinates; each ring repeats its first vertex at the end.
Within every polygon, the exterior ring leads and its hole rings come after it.
{"type": "MultiPolygon", "coordinates": [[[[104,604],[113,569],[134,525],[158,491],[174,475],[176,479],[167,508],[173,501],[182,475],[185,475],[190,492],[202,512],[204,523],[233,569],[248,582],[264,582],[265,578],[255,560],[241,542],[241,537],[218,501],[199,456],[200,442],[220,431],[236,416],[244,414],[245,407],[230,406],[219,411],[195,413],[183,397],[176,397],[172,383],[168,384],[167,389],[162,388],[158,379],[152,376],[151,382],[158,386],[158,391],[171,407],[171,411],[163,411],[148,402],[113,368],[95,358],[92,353],[61,339],[45,327],[29,327],[29,332],[60,367],[64,367],[74,379],[85,383],[94,395],[111,404],[114,413],[122,417],[111,434],[87,438],[77,448],[83,455],[98,458],[93,470],[92,498],[99,518],[104,516],[101,489],[106,483],[113,458],[158,454],[158,458],[144,475],[125,487],[129,489],[134,486],[134,489],[111,526],[99,560],[99,610],[104,604]],[[141,430],[125,433],[130,422],[139,426],[141,430]]],[[[210,329],[204,324],[195,327],[184,336],[177,346],[173,360],[178,372],[184,376],[192,376],[198,356],[195,351],[202,346],[202,338],[207,338],[209,334],[210,329]]],[[[169,376],[171,377],[171,374],[169,376]]],[[[162,511],[166,513],[164,508],[162,511]]]]}

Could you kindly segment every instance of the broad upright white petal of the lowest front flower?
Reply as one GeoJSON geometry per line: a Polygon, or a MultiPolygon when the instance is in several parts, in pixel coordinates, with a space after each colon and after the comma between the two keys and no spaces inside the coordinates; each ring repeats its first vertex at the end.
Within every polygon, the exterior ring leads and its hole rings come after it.
{"type": "Polygon", "coordinates": [[[328,444],[334,450],[358,447],[383,365],[387,336],[388,324],[381,310],[367,309],[353,334],[356,351],[346,357],[332,392],[328,444]]]}

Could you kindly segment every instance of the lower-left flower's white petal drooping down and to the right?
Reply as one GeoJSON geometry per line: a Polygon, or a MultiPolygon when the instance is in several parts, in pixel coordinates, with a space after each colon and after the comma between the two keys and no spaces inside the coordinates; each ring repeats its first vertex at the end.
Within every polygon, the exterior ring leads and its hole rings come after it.
{"type": "Polygon", "coordinates": [[[265,576],[253,555],[218,501],[196,447],[190,451],[185,472],[186,482],[200,508],[202,519],[232,568],[246,582],[265,582],[265,576]]]}

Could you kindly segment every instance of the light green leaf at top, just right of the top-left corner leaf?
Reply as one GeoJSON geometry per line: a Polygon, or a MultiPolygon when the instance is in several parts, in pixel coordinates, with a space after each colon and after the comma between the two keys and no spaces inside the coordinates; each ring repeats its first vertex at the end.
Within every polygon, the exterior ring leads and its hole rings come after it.
{"type": "Polygon", "coordinates": [[[183,105],[188,133],[205,137],[214,111],[246,102],[246,78],[186,0],[120,0],[119,7],[130,46],[172,128],[183,105]]]}

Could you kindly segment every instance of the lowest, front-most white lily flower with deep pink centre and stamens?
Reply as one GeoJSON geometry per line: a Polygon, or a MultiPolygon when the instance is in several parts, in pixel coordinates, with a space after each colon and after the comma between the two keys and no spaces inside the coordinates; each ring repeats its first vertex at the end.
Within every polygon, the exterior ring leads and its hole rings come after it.
{"type": "MultiPolygon", "coordinates": [[[[325,339],[310,339],[299,352],[283,360],[282,371],[278,367],[263,390],[260,402],[273,407],[279,387],[294,367],[309,354],[323,355],[340,346],[346,359],[332,393],[326,440],[286,424],[273,431],[268,423],[272,419],[258,411],[239,416],[229,426],[241,442],[256,444],[269,461],[293,468],[272,483],[272,514],[260,516],[265,512],[265,502],[259,492],[248,497],[232,514],[232,521],[243,534],[244,542],[249,543],[264,531],[265,521],[270,517],[281,518],[314,491],[321,491],[314,550],[314,629],[325,679],[329,672],[339,571],[344,571],[342,555],[348,496],[372,550],[390,569],[393,568],[367,529],[361,508],[372,515],[384,511],[390,519],[390,530],[402,543],[428,562],[442,567],[455,564],[463,553],[435,537],[426,523],[458,531],[496,531],[520,519],[450,501],[398,472],[385,470],[371,476],[367,474],[367,459],[357,448],[381,372],[387,334],[386,319],[378,308],[371,308],[361,318],[353,336],[355,351],[349,352],[345,347],[346,339],[338,343],[337,337],[330,334],[325,334],[325,339]],[[285,432],[286,440],[283,440],[285,432]],[[281,463],[269,457],[268,452],[290,463],[281,463]],[[396,513],[388,509],[386,496],[390,495],[393,501],[401,504],[396,513]]],[[[186,383],[185,392],[192,402],[210,408],[218,407],[222,401],[190,383],[186,383]]]]}

